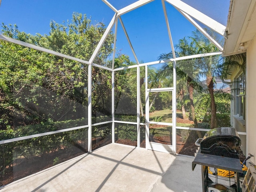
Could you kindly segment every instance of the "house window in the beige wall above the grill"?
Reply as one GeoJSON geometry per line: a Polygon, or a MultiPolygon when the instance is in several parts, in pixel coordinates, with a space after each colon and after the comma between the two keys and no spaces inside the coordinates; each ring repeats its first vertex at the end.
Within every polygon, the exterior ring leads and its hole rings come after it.
{"type": "Polygon", "coordinates": [[[235,79],[236,82],[236,112],[240,117],[245,120],[245,92],[246,92],[246,74],[243,71],[238,78],[235,79]]]}

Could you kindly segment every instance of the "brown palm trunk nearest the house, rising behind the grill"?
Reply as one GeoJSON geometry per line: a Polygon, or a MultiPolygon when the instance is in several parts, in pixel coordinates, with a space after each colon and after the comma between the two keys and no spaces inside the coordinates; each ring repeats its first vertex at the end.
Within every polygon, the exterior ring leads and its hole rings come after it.
{"type": "Polygon", "coordinates": [[[216,128],[218,126],[217,124],[217,116],[216,116],[216,104],[214,100],[214,84],[212,81],[212,76],[206,78],[206,84],[208,86],[208,90],[210,93],[210,99],[211,99],[211,129],[216,128]]]}

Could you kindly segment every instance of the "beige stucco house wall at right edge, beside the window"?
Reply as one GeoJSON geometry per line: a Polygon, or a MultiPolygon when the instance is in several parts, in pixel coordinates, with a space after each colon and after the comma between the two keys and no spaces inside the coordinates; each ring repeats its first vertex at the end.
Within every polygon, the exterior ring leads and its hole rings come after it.
{"type": "Polygon", "coordinates": [[[246,132],[247,154],[254,155],[250,160],[256,163],[256,38],[247,49],[246,62],[246,132]]]}

